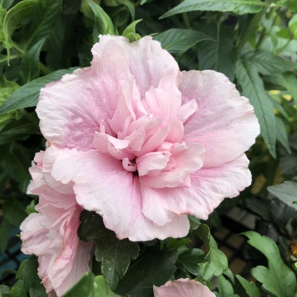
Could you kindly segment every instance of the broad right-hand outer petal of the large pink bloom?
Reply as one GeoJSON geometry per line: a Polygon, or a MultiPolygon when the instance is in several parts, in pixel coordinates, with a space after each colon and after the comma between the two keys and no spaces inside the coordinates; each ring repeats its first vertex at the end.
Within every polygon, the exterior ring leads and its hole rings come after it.
{"type": "Polygon", "coordinates": [[[204,167],[232,161],[254,143],[259,125],[253,108],[222,73],[183,71],[179,90],[183,103],[196,99],[198,104],[185,122],[183,141],[206,149],[204,167]]]}

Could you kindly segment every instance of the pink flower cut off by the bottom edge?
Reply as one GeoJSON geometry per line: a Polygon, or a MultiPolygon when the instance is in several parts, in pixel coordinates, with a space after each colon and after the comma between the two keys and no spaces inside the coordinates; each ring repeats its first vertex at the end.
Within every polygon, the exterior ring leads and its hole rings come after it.
{"type": "Polygon", "coordinates": [[[195,280],[178,279],[161,287],[153,286],[154,297],[215,297],[204,285],[195,280]]]}

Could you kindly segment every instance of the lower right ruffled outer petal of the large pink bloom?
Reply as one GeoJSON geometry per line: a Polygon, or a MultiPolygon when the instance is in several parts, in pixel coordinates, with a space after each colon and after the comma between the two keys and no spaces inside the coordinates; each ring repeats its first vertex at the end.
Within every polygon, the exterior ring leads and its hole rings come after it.
{"type": "Polygon", "coordinates": [[[143,213],[157,224],[185,213],[206,220],[224,198],[236,197],[250,185],[248,162],[242,154],[224,165],[201,168],[191,175],[191,187],[154,189],[141,184],[143,213]]]}

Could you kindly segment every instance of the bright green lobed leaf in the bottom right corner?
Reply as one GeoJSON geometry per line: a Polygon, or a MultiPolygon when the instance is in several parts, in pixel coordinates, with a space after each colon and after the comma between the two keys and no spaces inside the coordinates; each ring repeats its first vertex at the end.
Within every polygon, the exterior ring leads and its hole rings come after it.
{"type": "Polygon", "coordinates": [[[294,272],[283,262],[276,243],[267,236],[254,231],[244,232],[247,243],[262,252],[268,260],[268,268],[257,266],[252,268],[252,276],[262,283],[265,290],[277,297],[293,297],[296,277],[294,272]]]}

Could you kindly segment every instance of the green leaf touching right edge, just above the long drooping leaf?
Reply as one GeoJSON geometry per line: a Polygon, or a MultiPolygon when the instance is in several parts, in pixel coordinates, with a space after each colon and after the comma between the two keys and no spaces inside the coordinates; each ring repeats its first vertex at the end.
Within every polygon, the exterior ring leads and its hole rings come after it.
{"type": "Polygon", "coordinates": [[[297,63],[285,60],[284,58],[274,55],[269,51],[251,51],[245,55],[245,58],[257,68],[258,72],[263,75],[297,69],[297,63]]]}

